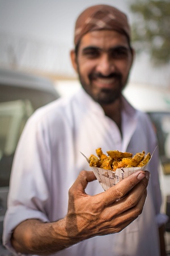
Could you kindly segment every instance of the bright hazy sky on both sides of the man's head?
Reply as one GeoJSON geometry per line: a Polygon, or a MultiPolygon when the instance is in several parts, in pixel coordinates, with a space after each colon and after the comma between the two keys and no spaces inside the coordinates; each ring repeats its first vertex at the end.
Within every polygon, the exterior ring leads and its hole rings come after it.
{"type": "MultiPolygon", "coordinates": [[[[133,0],[0,0],[0,32],[27,36],[42,42],[73,46],[74,23],[84,8],[105,3],[114,5],[133,16],[129,3],[133,0]]],[[[1,42],[0,42],[1,47],[1,42]]],[[[130,79],[133,82],[167,86],[170,81],[169,67],[153,68],[148,57],[136,57],[130,79]]]]}

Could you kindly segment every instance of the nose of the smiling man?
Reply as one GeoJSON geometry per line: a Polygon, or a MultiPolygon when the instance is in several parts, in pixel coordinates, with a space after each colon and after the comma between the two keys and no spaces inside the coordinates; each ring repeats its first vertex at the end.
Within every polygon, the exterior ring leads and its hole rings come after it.
{"type": "Polygon", "coordinates": [[[104,76],[108,76],[116,70],[116,65],[108,53],[101,55],[97,61],[96,72],[100,72],[104,76]]]}

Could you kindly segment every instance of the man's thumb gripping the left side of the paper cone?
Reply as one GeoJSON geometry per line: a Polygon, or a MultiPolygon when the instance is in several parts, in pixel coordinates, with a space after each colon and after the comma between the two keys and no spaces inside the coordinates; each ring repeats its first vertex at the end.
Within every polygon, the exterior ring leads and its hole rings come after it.
{"type": "Polygon", "coordinates": [[[76,189],[76,191],[81,191],[84,193],[84,190],[87,187],[88,182],[96,180],[96,176],[92,171],[81,171],[74,184],[70,188],[71,191],[76,189]]]}

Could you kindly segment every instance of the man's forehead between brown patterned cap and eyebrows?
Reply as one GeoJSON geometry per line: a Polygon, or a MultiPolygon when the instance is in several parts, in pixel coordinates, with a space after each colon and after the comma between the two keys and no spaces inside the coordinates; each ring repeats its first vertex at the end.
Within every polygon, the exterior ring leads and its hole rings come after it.
{"type": "Polygon", "coordinates": [[[100,30],[88,32],[82,37],[79,49],[89,46],[109,49],[116,46],[129,47],[129,43],[124,34],[113,30],[100,30]]]}

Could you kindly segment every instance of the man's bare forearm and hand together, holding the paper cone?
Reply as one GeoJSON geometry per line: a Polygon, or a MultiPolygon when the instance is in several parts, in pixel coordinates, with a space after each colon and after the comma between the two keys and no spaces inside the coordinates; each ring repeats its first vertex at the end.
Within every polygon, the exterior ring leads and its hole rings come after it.
{"type": "MultiPolygon", "coordinates": [[[[94,236],[120,232],[142,213],[149,172],[138,171],[99,195],[87,195],[88,182],[96,179],[82,171],[69,190],[65,218],[43,223],[25,220],[12,233],[11,243],[23,254],[53,254],[94,236]]],[[[94,184],[95,185],[95,184],[94,184]]]]}

